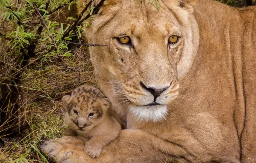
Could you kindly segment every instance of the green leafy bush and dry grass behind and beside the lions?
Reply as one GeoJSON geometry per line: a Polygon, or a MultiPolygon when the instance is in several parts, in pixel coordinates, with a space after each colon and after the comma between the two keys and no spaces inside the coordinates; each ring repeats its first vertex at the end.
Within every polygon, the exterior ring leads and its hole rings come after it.
{"type": "MultiPolygon", "coordinates": [[[[95,84],[83,27],[104,0],[87,2],[79,16],[77,0],[0,0],[1,163],[50,161],[38,145],[62,135],[61,97],[95,84]]],[[[145,2],[160,9],[158,0],[145,2]]]]}

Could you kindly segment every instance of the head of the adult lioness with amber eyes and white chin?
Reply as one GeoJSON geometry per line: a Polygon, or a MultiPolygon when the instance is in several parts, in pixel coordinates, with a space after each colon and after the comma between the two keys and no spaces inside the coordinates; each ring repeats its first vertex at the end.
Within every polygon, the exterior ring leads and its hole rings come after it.
{"type": "Polygon", "coordinates": [[[146,2],[129,0],[103,9],[102,14],[86,33],[89,43],[108,45],[90,47],[95,71],[115,85],[117,92],[122,88],[130,101],[129,110],[138,119],[161,120],[166,106],[177,97],[178,78],[191,63],[190,43],[186,43],[192,37],[191,29],[182,27],[162,2],[158,10],[146,2]]]}

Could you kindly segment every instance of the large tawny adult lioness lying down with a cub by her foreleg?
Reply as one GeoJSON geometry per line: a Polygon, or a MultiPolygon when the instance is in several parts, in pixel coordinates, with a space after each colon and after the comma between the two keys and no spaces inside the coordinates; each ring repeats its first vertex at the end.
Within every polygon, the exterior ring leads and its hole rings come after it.
{"type": "MultiPolygon", "coordinates": [[[[84,142],[46,144],[59,162],[256,159],[256,7],[211,0],[107,2],[86,28],[101,91],[127,121],[97,159],[84,142]],[[119,98],[119,100],[116,100],[119,98]]],[[[44,149],[43,149],[44,150],[44,149]]]]}

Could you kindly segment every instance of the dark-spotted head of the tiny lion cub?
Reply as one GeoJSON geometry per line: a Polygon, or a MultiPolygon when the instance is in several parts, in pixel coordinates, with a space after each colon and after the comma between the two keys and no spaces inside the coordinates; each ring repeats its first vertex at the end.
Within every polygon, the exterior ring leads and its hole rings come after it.
{"type": "Polygon", "coordinates": [[[71,96],[62,97],[62,101],[72,120],[74,129],[82,132],[88,132],[97,126],[110,108],[110,103],[104,94],[89,85],[76,88],[71,96]]]}

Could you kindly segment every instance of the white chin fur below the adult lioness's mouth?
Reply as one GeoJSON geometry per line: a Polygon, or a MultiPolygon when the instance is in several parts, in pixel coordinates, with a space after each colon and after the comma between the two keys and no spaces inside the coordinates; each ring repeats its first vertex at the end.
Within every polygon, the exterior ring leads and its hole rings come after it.
{"type": "Polygon", "coordinates": [[[156,106],[130,106],[129,111],[137,121],[162,121],[167,115],[166,105],[156,106]]]}

